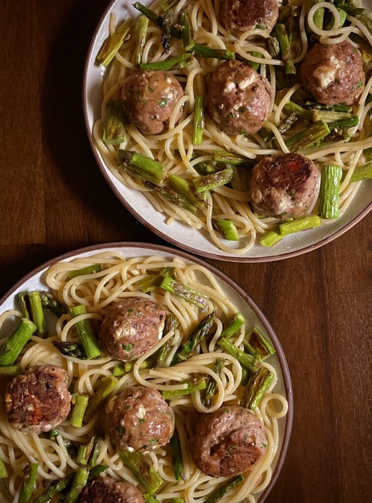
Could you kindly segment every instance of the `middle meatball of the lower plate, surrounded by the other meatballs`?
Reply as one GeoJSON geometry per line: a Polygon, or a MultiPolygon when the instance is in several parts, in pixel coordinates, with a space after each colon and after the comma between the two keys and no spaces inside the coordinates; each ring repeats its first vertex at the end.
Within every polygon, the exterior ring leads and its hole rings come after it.
{"type": "Polygon", "coordinates": [[[170,441],[174,412],[159,391],[135,386],[107,403],[106,431],[121,449],[154,451],[170,441]]]}

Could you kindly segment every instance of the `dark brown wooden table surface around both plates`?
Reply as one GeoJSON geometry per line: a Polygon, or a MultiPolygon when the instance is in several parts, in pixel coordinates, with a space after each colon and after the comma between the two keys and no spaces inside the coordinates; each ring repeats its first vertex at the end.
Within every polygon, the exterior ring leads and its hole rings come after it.
{"type": "MultiPolygon", "coordinates": [[[[73,248],[162,242],[113,196],[86,137],[83,65],[106,4],[0,3],[1,295],[73,248]]],[[[371,226],[370,213],[283,262],[214,262],[263,308],[291,372],[292,439],[268,503],[370,501],[371,226]]]]}

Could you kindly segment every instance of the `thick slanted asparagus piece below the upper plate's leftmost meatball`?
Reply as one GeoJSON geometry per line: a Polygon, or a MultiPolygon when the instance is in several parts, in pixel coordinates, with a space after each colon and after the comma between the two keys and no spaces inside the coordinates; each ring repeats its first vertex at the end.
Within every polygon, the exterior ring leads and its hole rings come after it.
{"type": "Polygon", "coordinates": [[[125,170],[156,185],[163,182],[167,172],[160,162],[130,150],[118,151],[118,163],[125,170]]]}

